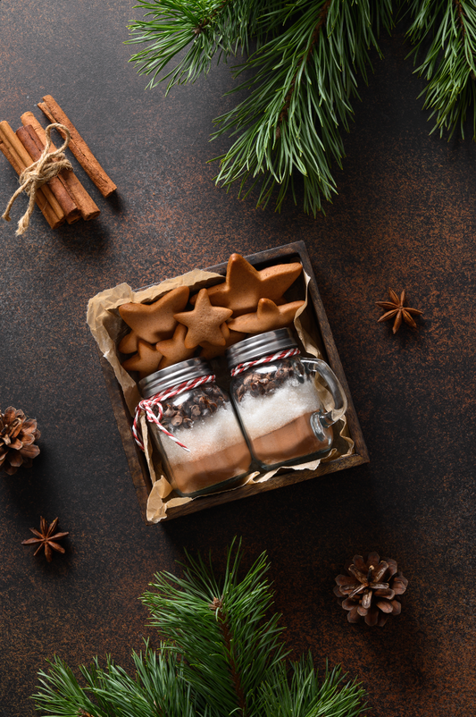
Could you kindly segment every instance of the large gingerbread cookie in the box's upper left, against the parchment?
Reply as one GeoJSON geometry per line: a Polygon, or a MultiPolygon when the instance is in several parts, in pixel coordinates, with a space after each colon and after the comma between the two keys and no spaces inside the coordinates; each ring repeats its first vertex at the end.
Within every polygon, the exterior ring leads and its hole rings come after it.
{"type": "Polygon", "coordinates": [[[187,306],[189,292],[188,286],[178,286],[153,304],[122,304],[119,313],[144,341],[156,343],[170,339],[177,325],[173,315],[187,306]]]}

